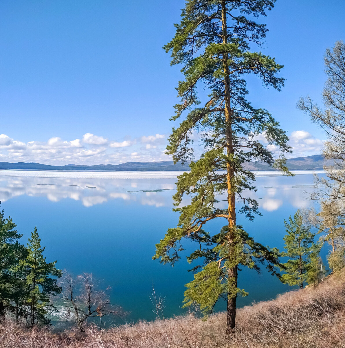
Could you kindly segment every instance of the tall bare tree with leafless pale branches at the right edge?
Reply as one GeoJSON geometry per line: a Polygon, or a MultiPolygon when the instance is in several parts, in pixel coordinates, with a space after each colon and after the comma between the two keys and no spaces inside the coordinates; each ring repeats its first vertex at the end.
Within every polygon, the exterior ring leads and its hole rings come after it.
{"type": "MultiPolygon", "coordinates": [[[[312,98],[301,98],[297,106],[309,114],[328,136],[323,155],[330,165],[324,167],[326,177],[316,176],[318,190],[311,198],[320,200],[321,211],[314,214],[314,225],[325,232],[332,251],[330,259],[342,260],[345,232],[345,44],[337,41],[325,54],[327,81],[322,91],[324,108],[313,103],[312,98]],[[341,255],[340,255],[340,254],[341,255]],[[335,257],[336,256],[336,257],[335,257]]],[[[334,269],[334,267],[332,267],[334,269]]]]}

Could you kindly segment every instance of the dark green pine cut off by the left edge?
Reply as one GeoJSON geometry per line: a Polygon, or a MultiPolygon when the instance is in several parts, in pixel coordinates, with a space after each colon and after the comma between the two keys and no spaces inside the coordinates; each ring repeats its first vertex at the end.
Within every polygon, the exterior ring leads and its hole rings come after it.
{"type": "Polygon", "coordinates": [[[11,217],[5,219],[4,211],[0,211],[0,318],[6,311],[15,311],[16,267],[19,260],[25,258],[25,248],[18,242],[22,235],[15,228],[11,217]]]}

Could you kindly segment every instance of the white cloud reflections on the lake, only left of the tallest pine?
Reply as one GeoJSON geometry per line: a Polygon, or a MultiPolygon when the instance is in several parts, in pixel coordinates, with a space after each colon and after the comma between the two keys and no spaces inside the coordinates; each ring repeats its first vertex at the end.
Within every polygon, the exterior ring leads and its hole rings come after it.
{"type": "MultiPolygon", "coordinates": [[[[63,199],[81,201],[85,207],[102,204],[112,199],[137,201],[156,207],[171,204],[173,183],[142,179],[65,179],[42,177],[0,176],[0,201],[26,195],[47,197],[52,202],[63,199]],[[161,192],[143,192],[161,190],[161,192]],[[166,195],[169,192],[169,195],[166,195]],[[162,195],[163,193],[163,195],[162,195]]],[[[171,181],[171,180],[170,180],[171,181]]]]}

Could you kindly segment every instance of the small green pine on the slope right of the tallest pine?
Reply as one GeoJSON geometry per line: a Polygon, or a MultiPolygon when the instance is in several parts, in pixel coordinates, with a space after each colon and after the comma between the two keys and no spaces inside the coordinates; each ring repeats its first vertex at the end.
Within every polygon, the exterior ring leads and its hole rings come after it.
{"type": "Polygon", "coordinates": [[[289,222],[284,223],[287,232],[284,237],[286,252],[282,252],[281,256],[287,256],[289,260],[282,264],[286,273],[281,276],[281,281],[303,289],[303,283],[315,276],[313,267],[315,259],[318,260],[319,246],[314,244],[315,234],[310,232],[310,226],[303,225],[303,216],[299,210],[295,212],[294,219],[290,216],[289,222]]]}

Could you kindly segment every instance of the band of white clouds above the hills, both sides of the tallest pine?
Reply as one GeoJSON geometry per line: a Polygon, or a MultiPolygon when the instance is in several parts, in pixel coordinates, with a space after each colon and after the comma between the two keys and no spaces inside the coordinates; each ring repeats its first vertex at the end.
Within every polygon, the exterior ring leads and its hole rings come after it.
{"type": "MultiPolygon", "coordinates": [[[[274,145],[265,142],[264,135],[260,140],[271,150],[277,150],[274,145]]],[[[313,137],[309,132],[296,130],[290,134],[290,144],[294,150],[290,157],[298,157],[321,153],[323,141],[313,137]]],[[[51,165],[120,164],[133,160],[166,161],[170,160],[171,156],[165,155],[165,146],[166,136],[163,134],[114,141],[86,133],[74,140],[64,140],[54,136],[46,141],[33,140],[26,143],[14,140],[6,134],[0,134],[0,161],[38,162],[51,165]]]]}

